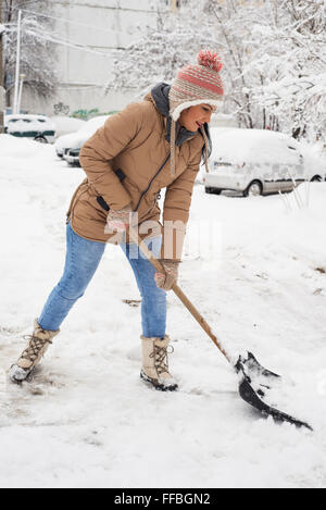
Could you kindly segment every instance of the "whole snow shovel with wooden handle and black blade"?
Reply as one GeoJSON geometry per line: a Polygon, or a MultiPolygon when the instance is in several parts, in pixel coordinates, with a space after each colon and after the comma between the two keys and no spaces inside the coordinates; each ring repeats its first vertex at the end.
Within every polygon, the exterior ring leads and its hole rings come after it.
{"type": "MultiPolygon", "coordinates": [[[[140,250],[143,254],[150,260],[153,266],[159,271],[163,272],[164,270],[159,262],[159,260],[153,256],[153,253],[149,250],[146,242],[141,239],[138,235],[138,232],[135,228],[129,229],[129,236],[133,241],[138,245],[140,250]]],[[[259,363],[255,357],[248,352],[247,357],[243,358],[241,356],[238,357],[237,362],[235,363],[231,360],[231,357],[227,353],[225,348],[218,341],[217,337],[212,332],[211,327],[204,320],[204,318],[199,313],[199,311],[193,307],[180,287],[176,284],[172,287],[174,294],[180,299],[180,301],[185,304],[185,307],[189,310],[191,315],[196,319],[199,325],[203,328],[203,331],[209,335],[209,337],[213,340],[215,346],[220,349],[220,351],[225,356],[227,361],[234,368],[236,373],[239,376],[239,395],[240,397],[254,409],[259,410],[265,416],[272,416],[275,422],[278,423],[290,423],[296,425],[297,427],[305,427],[310,431],[313,428],[308,424],[296,418],[279,411],[278,409],[269,406],[264,401],[264,397],[267,395],[268,390],[272,389],[273,383],[280,382],[280,376],[271,372],[269,370],[265,369],[263,365],[259,363]]]]}

